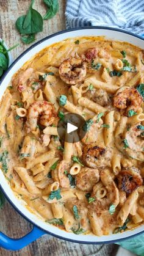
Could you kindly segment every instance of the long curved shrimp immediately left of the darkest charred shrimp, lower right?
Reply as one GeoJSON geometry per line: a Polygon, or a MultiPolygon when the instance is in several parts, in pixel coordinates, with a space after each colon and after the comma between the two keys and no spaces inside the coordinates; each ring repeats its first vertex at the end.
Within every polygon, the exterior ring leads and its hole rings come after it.
{"type": "Polygon", "coordinates": [[[100,178],[107,189],[107,198],[109,198],[110,203],[117,206],[120,201],[120,197],[115,181],[113,181],[112,174],[110,174],[110,170],[101,170],[100,178]]]}

